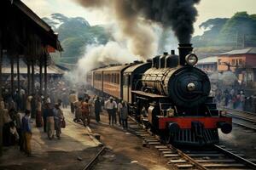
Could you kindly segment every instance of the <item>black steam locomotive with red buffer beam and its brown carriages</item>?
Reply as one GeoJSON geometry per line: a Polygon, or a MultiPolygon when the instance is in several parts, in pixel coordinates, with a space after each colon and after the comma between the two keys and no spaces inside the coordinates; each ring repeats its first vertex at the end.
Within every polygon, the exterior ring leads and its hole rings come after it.
{"type": "Polygon", "coordinates": [[[137,119],[166,143],[217,144],[218,128],[230,133],[232,120],[209,96],[207,74],[196,68],[191,44],[179,44],[179,56],[155,56],[147,62],[108,65],[87,73],[100,94],[124,99],[137,119]]]}

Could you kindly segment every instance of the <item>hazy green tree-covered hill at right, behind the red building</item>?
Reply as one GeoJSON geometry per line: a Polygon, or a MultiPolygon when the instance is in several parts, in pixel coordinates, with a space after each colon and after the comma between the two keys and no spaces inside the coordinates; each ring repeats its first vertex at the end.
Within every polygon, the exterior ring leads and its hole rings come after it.
{"type": "Polygon", "coordinates": [[[195,47],[246,48],[256,46],[256,14],[238,12],[229,18],[215,18],[201,23],[202,36],[195,36],[195,47]]]}

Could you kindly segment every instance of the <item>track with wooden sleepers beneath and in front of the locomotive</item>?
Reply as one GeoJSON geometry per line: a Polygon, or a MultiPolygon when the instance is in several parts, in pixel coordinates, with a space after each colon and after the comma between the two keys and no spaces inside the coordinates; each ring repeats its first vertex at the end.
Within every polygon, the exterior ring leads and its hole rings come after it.
{"type": "Polygon", "coordinates": [[[256,169],[256,160],[247,160],[236,151],[224,145],[213,145],[209,148],[177,148],[163,144],[158,136],[139,125],[132,117],[129,120],[131,130],[143,139],[144,145],[158,150],[160,156],[178,169],[256,169]]]}

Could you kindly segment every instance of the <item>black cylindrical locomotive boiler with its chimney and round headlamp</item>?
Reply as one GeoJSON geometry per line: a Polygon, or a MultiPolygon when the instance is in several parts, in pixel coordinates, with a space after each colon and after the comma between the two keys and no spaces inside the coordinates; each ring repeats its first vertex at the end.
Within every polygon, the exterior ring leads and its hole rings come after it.
{"type": "Polygon", "coordinates": [[[191,44],[181,45],[179,51],[179,65],[175,54],[154,57],[152,68],[143,74],[143,87],[168,96],[173,105],[192,108],[205,102],[211,85],[207,74],[194,67],[197,57],[190,54],[191,44]]]}

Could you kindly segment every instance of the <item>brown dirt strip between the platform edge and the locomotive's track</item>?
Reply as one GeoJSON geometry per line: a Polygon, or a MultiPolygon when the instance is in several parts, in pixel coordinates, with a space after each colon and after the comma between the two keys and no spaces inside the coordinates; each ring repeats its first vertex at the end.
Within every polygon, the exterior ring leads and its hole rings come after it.
{"type": "Polygon", "coordinates": [[[112,152],[107,152],[95,169],[174,169],[157,150],[143,147],[143,140],[123,130],[119,125],[108,125],[107,114],[101,115],[101,123],[91,122],[94,133],[101,135],[101,142],[112,152]]]}

